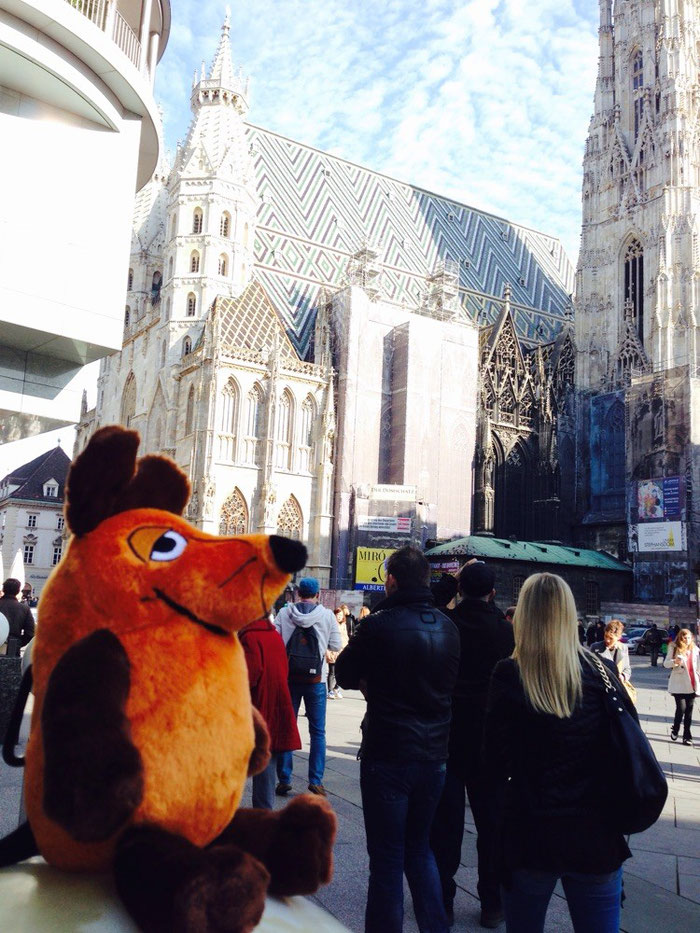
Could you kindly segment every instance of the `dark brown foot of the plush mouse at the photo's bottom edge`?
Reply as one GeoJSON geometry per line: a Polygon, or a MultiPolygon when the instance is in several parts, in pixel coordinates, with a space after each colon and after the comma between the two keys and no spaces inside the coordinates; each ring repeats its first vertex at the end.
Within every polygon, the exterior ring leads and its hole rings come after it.
{"type": "Polygon", "coordinates": [[[173,905],[174,933],[250,933],[265,910],[265,867],[236,846],[208,849],[173,905]]]}

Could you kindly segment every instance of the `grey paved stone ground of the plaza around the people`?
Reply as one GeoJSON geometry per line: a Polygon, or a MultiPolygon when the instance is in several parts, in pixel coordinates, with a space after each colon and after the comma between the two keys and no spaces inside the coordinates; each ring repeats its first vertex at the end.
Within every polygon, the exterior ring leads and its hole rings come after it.
{"type": "MultiPolygon", "coordinates": [[[[669,779],[670,794],[664,813],[652,829],[632,839],[634,858],[625,866],[627,900],[622,913],[624,933],[669,933],[700,929],[700,747],[686,748],[668,738],[673,701],[666,693],[668,672],[651,668],[647,658],[632,658],[633,679],[639,689],[642,723],[669,779]]],[[[368,860],[360,804],[360,720],[365,703],[360,694],[346,691],[342,700],[328,703],[328,764],[325,785],[338,814],[335,877],[314,900],[354,933],[364,925],[368,860]]],[[[304,749],[295,756],[295,791],[306,789],[308,729],[300,719],[304,749]]],[[[700,746],[700,722],[695,736],[700,746]]],[[[20,809],[21,772],[0,764],[0,833],[17,823],[20,809]]],[[[619,794],[624,793],[623,790],[619,794]]],[[[614,806],[615,792],[605,789],[601,806],[614,806]]],[[[279,800],[279,805],[283,801],[279,800]]],[[[467,814],[462,865],[457,878],[455,930],[479,931],[476,897],[476,844],[474,826],[467,814]]],[[[573,842],[572,842],[573,844],[573,842]]],[[[572,930],[566,903],[552,899],[547,933],[572,930]]],[[[406,892],[406,933],[417,930],[411,900],[406,892]]],[[[501,927],[505,930],[505,927],[501,927]]]]}

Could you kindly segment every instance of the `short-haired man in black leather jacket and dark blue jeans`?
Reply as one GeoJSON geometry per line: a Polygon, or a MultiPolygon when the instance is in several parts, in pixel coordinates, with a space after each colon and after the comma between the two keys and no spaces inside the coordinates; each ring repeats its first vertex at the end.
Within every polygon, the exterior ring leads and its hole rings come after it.
{"type": "Polygon", "coordinates": [[[404,547],[386,562],[387,598],[336,661],[367,699],[360,789],[369,852],[366,933],[401,933],[405,871],[421,933],[446,933],[429,836],[445,780],[457,629],[435,609],[430,565],[404,547]]]}

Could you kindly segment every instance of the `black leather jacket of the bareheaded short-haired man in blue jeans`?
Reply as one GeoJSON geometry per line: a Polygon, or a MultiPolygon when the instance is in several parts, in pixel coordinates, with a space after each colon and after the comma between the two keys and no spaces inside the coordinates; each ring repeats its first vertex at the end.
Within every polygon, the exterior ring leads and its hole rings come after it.
{"type": "Polygon", "coordinates": [[[459,638],[427,587],[400,590],[362,622],[335,664],[341,687],[367,698],[362,756],[444,761],[459,638]]]}

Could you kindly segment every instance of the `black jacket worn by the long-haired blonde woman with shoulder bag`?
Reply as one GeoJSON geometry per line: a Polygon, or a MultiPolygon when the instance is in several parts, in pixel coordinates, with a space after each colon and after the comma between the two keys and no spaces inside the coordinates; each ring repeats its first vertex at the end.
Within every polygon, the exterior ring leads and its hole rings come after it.
{"type": "MultiPolygon", "coordinates": [[[[611,679],[614,665],[607,660],[611,679]]],[[[525,697],[517,663],[493,672],[484,732],[489,787],[505,788],[498,814],[501,865],[514,868],[612,872],[630,857],[614,827],[615,794],[606,780],[608,712],[603,681],[582,662],[583,698],[568,719],[536,712],[525,697]]],[[[618,695],[634,718],[627,691],[618,695]]]]}

